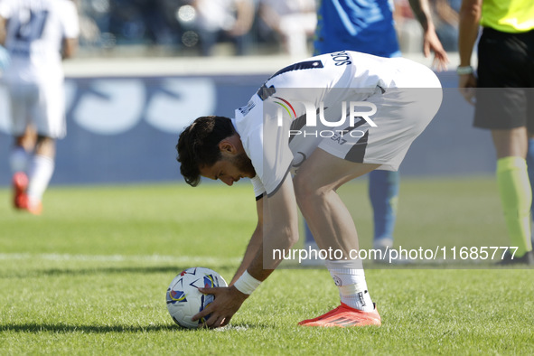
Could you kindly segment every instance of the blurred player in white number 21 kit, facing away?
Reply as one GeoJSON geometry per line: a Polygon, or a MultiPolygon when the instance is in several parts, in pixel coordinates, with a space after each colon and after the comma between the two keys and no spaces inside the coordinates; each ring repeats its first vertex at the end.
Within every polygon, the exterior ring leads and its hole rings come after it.
{"type": "Polygon", "coordinates": [[[14,136],[14,207],[36,215],[54,171],[55,140],[66,134],[61,59],[76,51],[79,31],[70,0],[0,1],[0,44],[11,59],[3,80],[14,136]],[[28,150],[32,129],[36,139],[28,150]]]}

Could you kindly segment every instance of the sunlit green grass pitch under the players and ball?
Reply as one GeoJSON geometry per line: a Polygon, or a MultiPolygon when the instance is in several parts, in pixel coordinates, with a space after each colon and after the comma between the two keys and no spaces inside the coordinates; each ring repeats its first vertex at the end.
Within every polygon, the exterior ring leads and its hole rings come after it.
{"type": "MultiPolygon", "coordinates": [[[[52,187],[40,217],[0,190],[0,354],[532,354],[534,271],[370,267],[383,325],[304,328],[338,304],[326,269],[282,268],[220,330],[182,330],[166,287],[183,268],[230,280],[255,226],[250,184],[52,187]]],[[[365,180],[342,187],[370,248],[365,180]]],[[[404,179],[396,244],[508,244],[492,178],[404,179]]]]}

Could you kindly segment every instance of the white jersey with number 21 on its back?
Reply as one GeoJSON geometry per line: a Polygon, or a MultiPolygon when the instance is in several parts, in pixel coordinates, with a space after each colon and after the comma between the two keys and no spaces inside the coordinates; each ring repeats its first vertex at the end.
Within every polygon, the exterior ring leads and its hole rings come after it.
{"type": "Polygon", "coordinates": [[[76,6],[70,0],[2,0],[0,16],[7,20],[5,48],[11,64],[5,80],[63,80],[61,45],[80,32],[76,6]]]}

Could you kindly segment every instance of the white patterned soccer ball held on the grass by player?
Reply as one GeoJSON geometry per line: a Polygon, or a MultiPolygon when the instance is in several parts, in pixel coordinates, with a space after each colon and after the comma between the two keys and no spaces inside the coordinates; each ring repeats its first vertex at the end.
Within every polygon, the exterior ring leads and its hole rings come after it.
{"type": "Polygon", "coordinates": [[[167,288],[167,310],[174,323],[194,329],[205,323],[210,315],[193,322],[192,316],[213,302],[213,295],[202,295],[198,288],[228,286],[220,274],[206,267],[192,267],[175,276],[167,288]]]}

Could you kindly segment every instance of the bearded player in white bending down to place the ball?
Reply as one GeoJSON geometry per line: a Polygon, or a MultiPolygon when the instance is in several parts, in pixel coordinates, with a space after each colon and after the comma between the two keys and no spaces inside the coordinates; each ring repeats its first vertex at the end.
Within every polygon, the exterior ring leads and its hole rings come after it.
{"type": "Polygon", "coordinates": [[[230,286],[201,289],[215,301],[193,319],[211,314],[210,327],[230,322],[281,262],[273,251],[297,241],[298,205],[318,247],[342,252],[324,261],[341,305],[300,324],[380,325],[361,260],[353,258],[354,221],[336,190],[375,169],[397,170],[441,100],[440,82],[426,66],[343,51],[279,70],[235,118],[199,117],[186,127],[176,145],[185,181],[250,178],[258,210],[230,286]]]}

